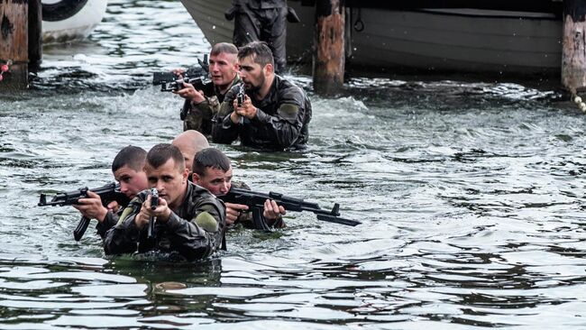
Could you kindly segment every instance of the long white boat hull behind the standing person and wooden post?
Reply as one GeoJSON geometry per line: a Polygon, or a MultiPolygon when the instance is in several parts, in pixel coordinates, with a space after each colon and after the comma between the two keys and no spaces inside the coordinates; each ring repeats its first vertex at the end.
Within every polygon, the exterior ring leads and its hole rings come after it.
{"type": "MultiPolygon", "coordinates": [[[[233,22],[224,18],[230,0],[181,2],[210,43],[232,41],[233,22]]],[[[348,68],[389,73],[404,69],[493,74],[560,72],[561,13],[388,8],[392,3],[395,2],[379,7],[346,8],[348,68]]],[[[310,62],[315,8],[298,1],[288,1],[288,5],[302,21],[288,23],[288,60],[310,62]]]]}

